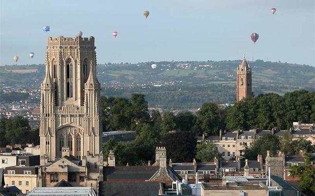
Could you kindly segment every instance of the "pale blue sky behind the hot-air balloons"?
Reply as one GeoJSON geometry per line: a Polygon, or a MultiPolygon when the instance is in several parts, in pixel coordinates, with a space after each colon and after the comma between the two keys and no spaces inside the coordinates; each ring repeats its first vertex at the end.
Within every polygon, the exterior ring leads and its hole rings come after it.
{"type": "Polygon", "coordinates": [[[95,37],[98,64],[236,60],[245,53],[248,60],[315,66],[315,0],[0,0],[0,65],[15,64],[14,55],[17,64],[44,63],[48,36],[79,30],[95,37]]]}

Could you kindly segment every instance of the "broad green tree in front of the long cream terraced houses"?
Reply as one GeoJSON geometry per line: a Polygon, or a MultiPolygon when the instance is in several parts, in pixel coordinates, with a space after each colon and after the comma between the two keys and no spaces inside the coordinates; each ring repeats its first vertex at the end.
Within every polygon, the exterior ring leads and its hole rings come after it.
{"type": "Polygon", "coordinates": [[[271,154],[277,154],[280,150],[279,137],[272,134],[264,134],[261,138],[252,143],[252,147],[245,147],[245,157],[249,160],[256,160],[257,155],[261,154],[263,159],[266,158],[267,150],[271,154]]]}

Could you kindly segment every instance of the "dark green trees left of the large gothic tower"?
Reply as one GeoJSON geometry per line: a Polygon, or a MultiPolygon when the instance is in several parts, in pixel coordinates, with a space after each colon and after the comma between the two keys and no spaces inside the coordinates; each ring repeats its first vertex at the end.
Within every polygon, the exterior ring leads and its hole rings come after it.
{"type": "Polygon", "coordinates": [[[12,119],[0,118],[0,147],[34,143],[39,145],[39,128],[31,129],[29,121],[22,116],[12,119]]]}

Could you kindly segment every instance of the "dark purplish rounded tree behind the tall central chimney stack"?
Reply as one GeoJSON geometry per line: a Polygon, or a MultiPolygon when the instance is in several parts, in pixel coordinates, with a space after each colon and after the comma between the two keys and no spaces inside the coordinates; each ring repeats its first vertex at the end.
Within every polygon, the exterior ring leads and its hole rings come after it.
{"type": "Polygon", "coordinates": [[[190,132],[168,133],[158,146],[166,147],[167,157],[173,162],[191,162],[195,157],[196,138],[190,132]]]}

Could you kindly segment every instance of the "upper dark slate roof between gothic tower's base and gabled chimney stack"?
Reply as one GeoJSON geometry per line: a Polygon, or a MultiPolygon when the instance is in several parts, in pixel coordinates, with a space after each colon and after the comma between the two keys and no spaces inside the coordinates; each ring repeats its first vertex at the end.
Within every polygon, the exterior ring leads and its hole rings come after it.
{"type": "Polygon", "coordinates": [[[104,181],[135,181],[148,180],[157,171],[158,166],[116,166],[104,168],[104,181]]]}

